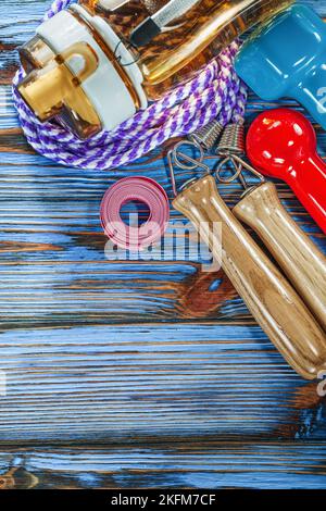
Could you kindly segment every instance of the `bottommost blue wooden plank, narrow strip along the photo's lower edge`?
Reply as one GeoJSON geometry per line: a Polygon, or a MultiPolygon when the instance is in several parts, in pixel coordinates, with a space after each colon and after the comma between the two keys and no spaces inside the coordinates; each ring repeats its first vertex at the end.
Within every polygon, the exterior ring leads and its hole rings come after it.
{"type": "Polygon", "coordinates": [[[325,488],[326,445],[205,441],[0,452],[0,487],[325,488]]]}

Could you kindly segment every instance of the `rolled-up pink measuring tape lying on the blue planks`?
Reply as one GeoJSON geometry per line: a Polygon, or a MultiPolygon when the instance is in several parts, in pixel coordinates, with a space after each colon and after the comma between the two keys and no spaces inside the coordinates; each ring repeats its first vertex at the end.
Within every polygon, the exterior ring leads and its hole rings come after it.
{"type": "Polygon", "coordinates": [[[106,236],[120,248],[138,251],[158,241],[166,230],[170,203],[165,190],[149,177],[125,177],[105,192],[101,203],[101,224],[106,236]],[[124,204],[138,201],[149,208],[140,226],[129,226],[121,217],[124,204]]]}

